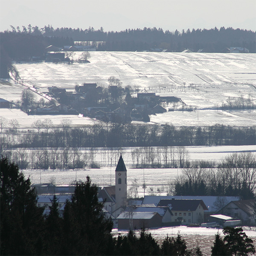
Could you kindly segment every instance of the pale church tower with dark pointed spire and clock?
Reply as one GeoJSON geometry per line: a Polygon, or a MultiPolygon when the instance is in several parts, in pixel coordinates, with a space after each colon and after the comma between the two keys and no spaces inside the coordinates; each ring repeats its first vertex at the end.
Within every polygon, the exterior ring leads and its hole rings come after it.
{"type": "Polygon", "coordinates": [[[122,154],[116,166],[116,209],[125,205],[127,198],[127,170],[125,167],[122,154]]]}

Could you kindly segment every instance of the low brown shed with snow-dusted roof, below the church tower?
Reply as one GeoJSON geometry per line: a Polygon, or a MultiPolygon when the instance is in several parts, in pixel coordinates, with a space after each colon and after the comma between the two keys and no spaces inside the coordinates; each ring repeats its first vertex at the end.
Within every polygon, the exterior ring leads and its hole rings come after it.
{"type": "Polygon", "coordinates": [[[162,227],[162,217],[157,212],[122,212],[117,221],[119,230],[162,227]]]}

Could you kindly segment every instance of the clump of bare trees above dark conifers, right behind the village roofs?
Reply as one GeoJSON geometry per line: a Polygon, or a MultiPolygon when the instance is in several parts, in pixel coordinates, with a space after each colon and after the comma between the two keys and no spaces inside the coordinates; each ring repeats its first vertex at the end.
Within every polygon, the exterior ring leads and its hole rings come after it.
{"type": "MultiPolygon", "coordinates": [[[[173,187],[170,187],[170,192],[173,187]]],[[[256,195],[256,155],[233,153],[221,160],[218,168],[202,168],[194,162],[183,169],[175,184],[176,195],[227,195],[244,199],[256,195]]]]}

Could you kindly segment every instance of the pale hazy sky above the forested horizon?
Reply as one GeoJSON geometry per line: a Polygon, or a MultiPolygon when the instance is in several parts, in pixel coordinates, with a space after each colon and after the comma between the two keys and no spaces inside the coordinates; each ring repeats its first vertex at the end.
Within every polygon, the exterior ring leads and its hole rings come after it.
{"type": "Polygon", "coordinates": [[[0,31],[45,25],[105,31],[221,26],[256,30],[256,0],[0,0],[0,31]]]}

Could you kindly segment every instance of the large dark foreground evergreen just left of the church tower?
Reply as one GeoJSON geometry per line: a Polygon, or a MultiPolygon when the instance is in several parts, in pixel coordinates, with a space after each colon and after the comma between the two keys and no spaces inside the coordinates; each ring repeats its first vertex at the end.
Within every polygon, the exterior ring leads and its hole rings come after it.
{"type": "Polygon", "coordinates": [[[64,208],[64,255],[99,255],[108,250],[113,223],[102,213],[98,187],[87,176],[77,183],[71,202],[64,208]]]}

